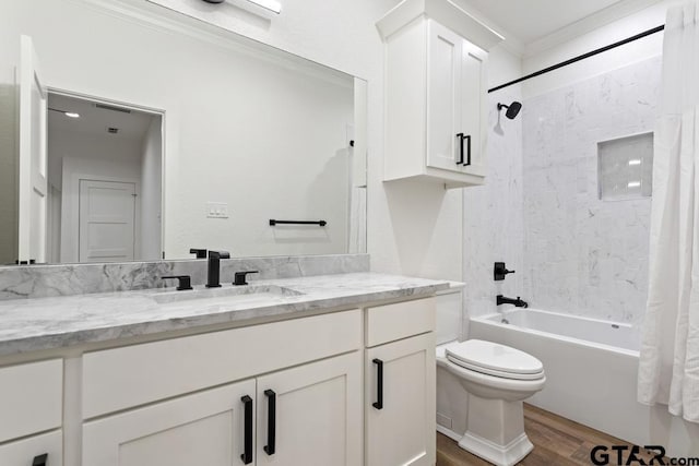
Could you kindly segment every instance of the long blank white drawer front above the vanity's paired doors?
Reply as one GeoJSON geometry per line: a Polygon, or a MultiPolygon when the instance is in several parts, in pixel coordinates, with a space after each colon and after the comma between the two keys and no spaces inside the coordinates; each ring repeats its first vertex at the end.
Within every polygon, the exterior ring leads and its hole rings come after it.
{"type": "Polygon", "coordinates": [[[358,349],[344,311],[86,354],[83,418],[358,349]]]}

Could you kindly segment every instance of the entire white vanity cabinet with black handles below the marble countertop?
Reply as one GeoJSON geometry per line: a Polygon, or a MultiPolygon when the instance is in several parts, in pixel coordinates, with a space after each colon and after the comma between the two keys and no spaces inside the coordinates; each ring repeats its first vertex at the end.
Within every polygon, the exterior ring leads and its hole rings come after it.
{"type": "Polygon", "coordinates": [[[434,465],[436,299],[390,299],[8,358],[0,465],[434,465]]]}

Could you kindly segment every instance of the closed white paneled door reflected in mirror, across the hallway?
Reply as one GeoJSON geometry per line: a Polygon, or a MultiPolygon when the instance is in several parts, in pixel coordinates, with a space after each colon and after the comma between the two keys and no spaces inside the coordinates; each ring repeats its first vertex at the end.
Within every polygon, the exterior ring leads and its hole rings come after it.
{"type": "Polygon", "coordinates": [[[80,180],[80,262],[133,261],[135,184],[80,180]]]}

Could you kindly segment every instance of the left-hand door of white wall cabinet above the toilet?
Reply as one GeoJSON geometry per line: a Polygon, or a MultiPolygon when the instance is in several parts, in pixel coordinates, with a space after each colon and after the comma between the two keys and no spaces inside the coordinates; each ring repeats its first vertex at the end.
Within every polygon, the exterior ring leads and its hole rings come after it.
{"type": "Polygon", "coordinates": [[[463,38],[428,20],[427,166],[461,171],[461,56],[463,38]]]}

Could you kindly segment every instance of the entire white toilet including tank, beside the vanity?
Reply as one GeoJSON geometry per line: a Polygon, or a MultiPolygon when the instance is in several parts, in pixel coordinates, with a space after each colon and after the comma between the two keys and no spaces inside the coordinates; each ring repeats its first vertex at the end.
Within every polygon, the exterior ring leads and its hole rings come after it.
{"type": "Polygon", "coordinates": [[[542,362],[491,342],[460,343],[461,289],[437,297],[437,430],[496,465],[510,466],[533,445],[522,401],[546,383],[542,362]]]}

